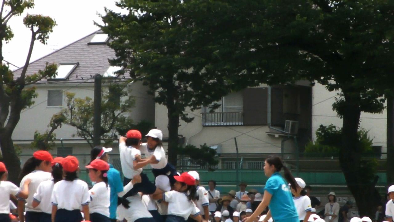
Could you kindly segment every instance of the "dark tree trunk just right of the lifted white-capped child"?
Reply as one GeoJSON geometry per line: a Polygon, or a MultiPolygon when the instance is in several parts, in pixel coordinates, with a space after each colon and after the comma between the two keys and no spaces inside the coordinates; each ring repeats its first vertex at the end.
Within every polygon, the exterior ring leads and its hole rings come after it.
{"type": "Polygon", "coordinates": [[[177,166],[179,114],[174,107],[167,105],[168,110],[168,161],[177,166]]]}

